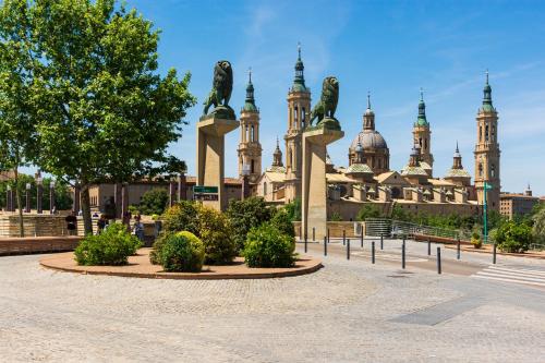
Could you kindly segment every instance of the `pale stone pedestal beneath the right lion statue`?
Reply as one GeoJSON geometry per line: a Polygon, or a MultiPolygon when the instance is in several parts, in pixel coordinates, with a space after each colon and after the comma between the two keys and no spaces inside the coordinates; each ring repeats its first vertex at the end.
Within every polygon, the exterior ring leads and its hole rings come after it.
{"type": "MultiPolygon", "coordinates": [[[[316,129],[303,133],[302,234],[314,228],[315,239],[327,234],[326,146],[344,136],[340,130],[316,129]]],[[[312,232],[311,232],[312,233],[312,232]]]]}

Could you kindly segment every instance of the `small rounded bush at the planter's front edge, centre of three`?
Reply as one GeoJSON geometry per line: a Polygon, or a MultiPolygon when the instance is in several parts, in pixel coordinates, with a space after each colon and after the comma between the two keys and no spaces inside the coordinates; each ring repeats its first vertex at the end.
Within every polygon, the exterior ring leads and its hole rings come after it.
{"type": "Polygon", "coordinates": [[[204,258],[204,244],[191,232],[171,233],[164,239],[160,261],[166,271],[198,273],[204,258]]]}

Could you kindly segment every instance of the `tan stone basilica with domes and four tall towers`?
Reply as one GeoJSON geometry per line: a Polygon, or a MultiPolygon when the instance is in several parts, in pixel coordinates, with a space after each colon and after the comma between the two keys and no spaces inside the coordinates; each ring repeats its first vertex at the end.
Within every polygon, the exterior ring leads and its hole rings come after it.
{"type": "MultiPolygon", "coordinates": [[[[277,140],[272,165],[262,169],[259,110],[255,104],[250,76],[246,99],[241,110],[241,134],[238,148],[239,174],[247,178],[252,193],[269,203],[283,204],[301,197],[302,133],[311,110],[311,90],[304,81],[301,50],[295,62],[295,76],[288,92],[288,120],[283,136],[284,155],[277,140]]],[[[489,209],[499,209],[499,144],[497,111],[492,102],[488,74],[482,106],[476,116],[474,182],[462,165],[456,145],[452,167],[444,176],[434,174],[432,131],[421,92],[417,116],[413,122],[413,147],[401,170],[390,168],[388,144],[378,132],[375,112],[367,95],[362,130],[348,146],[347,167],[326,160],[328,214],[353,220],[366,203],[373,203],[388,215],[395,205],[414,213],[473,215],[485,202],[489,209]]],[[[453,143],[455,144],[455,143],[453,143]]]]}

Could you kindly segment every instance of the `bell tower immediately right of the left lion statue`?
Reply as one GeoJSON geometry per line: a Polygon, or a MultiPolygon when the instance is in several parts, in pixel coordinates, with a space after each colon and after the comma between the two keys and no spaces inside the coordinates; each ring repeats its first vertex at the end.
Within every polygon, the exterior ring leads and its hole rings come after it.
{"type": "Polygon", "coordinates": [[[259,143],[259,109],[255,106],[252,69],[249,70],[246,100],[240,114],[239,178],[247,165],[249,181],[255,183],[262,174],[262,144],[259,143]]]}

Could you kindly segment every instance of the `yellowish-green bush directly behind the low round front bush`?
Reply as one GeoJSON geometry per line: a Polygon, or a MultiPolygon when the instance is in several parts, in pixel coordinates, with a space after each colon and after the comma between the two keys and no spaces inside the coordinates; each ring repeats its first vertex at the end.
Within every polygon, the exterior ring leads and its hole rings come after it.
{"type": "Polygon", "coordinates": [[[162,230],[165,232],[189,231],[198,237],[197,208],[197,204],[190,201],[174,204],[162,216],[162,230]]]}

